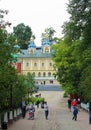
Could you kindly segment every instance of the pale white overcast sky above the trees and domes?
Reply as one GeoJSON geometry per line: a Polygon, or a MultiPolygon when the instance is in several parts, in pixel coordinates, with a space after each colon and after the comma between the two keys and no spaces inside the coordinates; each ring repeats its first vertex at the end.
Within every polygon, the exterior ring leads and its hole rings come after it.
{"type": "Polygon", "coordinates": [[[8,10],[6,21],[12,23],[12,28],[20,23],[29,26],[35,35],[35,44],[41,46],[41,34],[46,28],[53,27],[55,36],[62,37],[61,26],[68,21],[68,0],[0,0],[0,9],[8,10]]]}

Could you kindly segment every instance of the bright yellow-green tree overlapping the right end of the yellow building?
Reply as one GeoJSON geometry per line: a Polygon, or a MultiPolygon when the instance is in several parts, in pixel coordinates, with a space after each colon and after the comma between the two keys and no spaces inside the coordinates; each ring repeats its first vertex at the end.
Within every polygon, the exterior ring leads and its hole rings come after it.
{"type": "Polygon", "coordinates": [[[67,87],[67,85],[69,87],[70,84],[70,87],[73,87],[73,89],[77,89],[80,78],[80,70],[76,60],[77,55],[75,55],[75,48],[76,47],[73,45],[69,46],[68,44],[65,44],[63,40],[61,40],[59,44],[53,45],[53,60],[58,69],[58,80],[63,87],[67,87]]]}

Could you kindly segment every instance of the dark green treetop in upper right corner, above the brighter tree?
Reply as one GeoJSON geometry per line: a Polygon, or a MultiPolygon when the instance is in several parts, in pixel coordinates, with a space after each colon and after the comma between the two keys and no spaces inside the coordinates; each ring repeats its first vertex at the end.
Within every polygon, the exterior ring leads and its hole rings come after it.
{"type": "Polygon", "coordinates": [[[91,42],[91,2],[90,0],[69,0],[68,13],[69,22],[63,25],[65,37],[71,41],[84,39],[88,45],[91,42]]]}

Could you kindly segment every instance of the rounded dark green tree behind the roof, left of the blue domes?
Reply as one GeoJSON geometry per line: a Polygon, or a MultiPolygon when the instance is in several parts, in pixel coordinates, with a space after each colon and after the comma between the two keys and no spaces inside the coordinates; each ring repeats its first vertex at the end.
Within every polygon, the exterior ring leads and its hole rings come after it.
{"type": "Polygon", "coordinates": [[[13,27],[13,35],[20,44],[20,48],[26,49],[28,46],[28,41],[32,36],[32,30],[29,26],[25,26],[24,23],[20,23],[16,27],[13,27]]]}

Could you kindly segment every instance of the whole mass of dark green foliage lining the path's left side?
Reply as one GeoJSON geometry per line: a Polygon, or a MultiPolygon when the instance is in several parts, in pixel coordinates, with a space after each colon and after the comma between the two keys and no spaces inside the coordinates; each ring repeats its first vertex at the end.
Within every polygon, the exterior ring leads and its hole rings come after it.
{"type": "Polygon", "coordinates": [[[3,20],[6,11],[0,10],[0,114],[20,106],[22,96],[26,96],[25,77],[18,75],[13,64],[15,37],[8,34],[3,20]]]}

